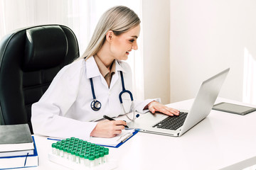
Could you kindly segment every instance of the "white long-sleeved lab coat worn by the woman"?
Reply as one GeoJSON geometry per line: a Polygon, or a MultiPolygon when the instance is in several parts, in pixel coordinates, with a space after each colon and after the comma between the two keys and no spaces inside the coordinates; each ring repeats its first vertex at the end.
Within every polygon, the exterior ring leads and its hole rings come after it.
{"type": "MultiPolygon", "coordinates": [[[[124,114],[119,101],[122,82],[119,71],[123,72],[125,89],[132,91],[132,71],[126,62],[116,62],[110,88],[100,74],[94,57],[78,60],[58,72],[42,98],[32,105],[31,122],[33,132],[50,137],[78,137],[89,140],[96,120],[103,115],[117,117],[124,114]],[[92,111],[93,100],[90,85],[92,78],[97,101],[102,103],[100,111],[92,111]]],[[[126,103],[124,96],[123,102],[126,103]]],[[[130,98],[127,98],[130,101],[130,98]]],[[[158,99],[156,99],[159,101],[158,99]]],[[[143,113],[143,108],[152,99],[135,101],[135,110],[143,113]]],[[[128,104],[127,104],[128,105],[128,104]]],[[[125,106],[129,107],[129,106],[125,106]]]]}

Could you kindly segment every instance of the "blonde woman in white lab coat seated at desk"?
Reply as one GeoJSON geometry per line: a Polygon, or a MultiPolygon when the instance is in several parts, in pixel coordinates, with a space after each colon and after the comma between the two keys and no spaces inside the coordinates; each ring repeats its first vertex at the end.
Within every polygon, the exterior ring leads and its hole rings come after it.
{"type": "MultiPolygon", "coordinates": [[[[33,104],[31,122],[35,134],[88,140],[90,136],[114,137],[122,132],[125,121],[100,119],[103,115],[124,114],[119,93],[123,84],[132,90],[132,71],[121,60],[127,60],[129,52],[138,49],[139,23],[137,14],[125,6],[110,8],[102,15],[84,55],[63,67],[42,98],[33,104]]],[[[129,108],[129,97],[122,96],[125,108],[129,108]]],[[[134,104],[134,110],[140,113],[148,109],[167,115],[179,113],[158,100],[134,104]]]]}

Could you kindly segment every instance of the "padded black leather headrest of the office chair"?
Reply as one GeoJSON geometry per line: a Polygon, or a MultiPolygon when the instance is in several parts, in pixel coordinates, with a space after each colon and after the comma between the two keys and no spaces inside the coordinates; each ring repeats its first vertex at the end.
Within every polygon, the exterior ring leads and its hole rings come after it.
{"type": "Polygon", "coordinates": [[[24,71],[55,67],[68,53],[68,40],[60,26],[41,26],[26,30],[24,71]]]}

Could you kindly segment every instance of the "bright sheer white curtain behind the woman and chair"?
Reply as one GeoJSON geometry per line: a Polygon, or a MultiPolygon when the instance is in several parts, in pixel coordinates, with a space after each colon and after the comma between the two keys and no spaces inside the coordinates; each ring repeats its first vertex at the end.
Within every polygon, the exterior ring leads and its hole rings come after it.
{"type": "MultiPolygon", "coordinates": [[[[102,13],[117,5],[132,8],[142,18],[142,0],[0,0],[0,38],[18,28],[61,24],[74,31],[82,55],[102,13]]],[[[139,49],[142,39],[141,31],[139,49]]],[[[134,98],[144,99],[142,50],[132,52],[127,62],[133,72],[134,98]]]]}

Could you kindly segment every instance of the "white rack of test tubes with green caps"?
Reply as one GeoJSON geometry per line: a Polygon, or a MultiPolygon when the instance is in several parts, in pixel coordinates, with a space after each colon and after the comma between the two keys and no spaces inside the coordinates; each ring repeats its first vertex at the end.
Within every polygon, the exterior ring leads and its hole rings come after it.
{"type": "Polygon", "coordinates": [[[109,159],[109,148],[75,137],[53,143],[48,159],[70,169],[117,168],[117,161],[109,159]]]}

